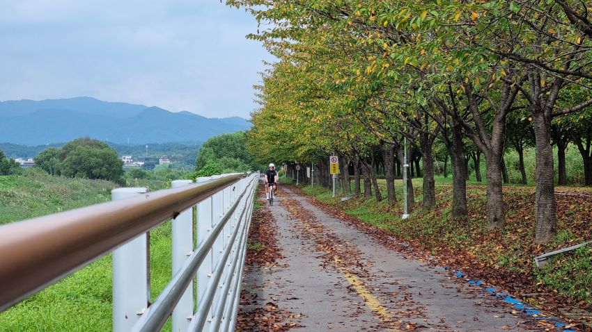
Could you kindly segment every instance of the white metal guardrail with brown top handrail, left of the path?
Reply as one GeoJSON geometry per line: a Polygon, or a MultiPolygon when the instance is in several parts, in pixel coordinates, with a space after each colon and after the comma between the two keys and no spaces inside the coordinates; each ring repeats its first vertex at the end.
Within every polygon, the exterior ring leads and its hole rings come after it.
{"type": "Polygon", "coordinates": [[[157,192],[120,188],[109,203],[0,226],[0,310],[116,248],[114,331],[157,331],[171,314],[173,331],[232,331],[257,181],[225,174],[157,192]],[[170,218],[173,278],[150,304],[146,232],[170,218]]]}

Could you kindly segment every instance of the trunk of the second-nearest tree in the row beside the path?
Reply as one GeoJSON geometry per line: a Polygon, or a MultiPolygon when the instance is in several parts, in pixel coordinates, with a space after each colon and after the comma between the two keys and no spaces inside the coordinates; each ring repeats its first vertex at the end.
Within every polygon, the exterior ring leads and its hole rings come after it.
{"type": "Polygon", "coordinates": [[[501,156],[496,153],[485,154],[485,165],[487,173],[487,212],[488,228],[504,226],[506,213],[504,211],[504,194],[501,186],[501,156]]]}

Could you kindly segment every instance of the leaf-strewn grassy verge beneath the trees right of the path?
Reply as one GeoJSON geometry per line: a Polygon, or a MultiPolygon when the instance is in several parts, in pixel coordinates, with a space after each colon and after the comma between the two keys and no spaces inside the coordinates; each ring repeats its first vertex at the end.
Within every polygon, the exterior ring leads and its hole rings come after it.
{"type": "MultiPolygon", "coordinates": [[[[557,195],[558,229],[556,240],[550,244],[533,244],[534,188],[516,185],[504,188],[506,226],[487,230],[485,186],[469,183],[467,198],[469,216],[451,218],[452,188],[447,181],[437,179],[437,206],[421,208],[421,179],[414,179],[416,203],[410,219],[402,220],[401,202],[389,206],[373,197],[359,197],[341,201],[320,186],[304,186],[307,194],[324,204],[335,206],[347,215],[395,234],[413,247],[437,256],[440,263],[463,269],[470,275],[486,279],[515,294],[524,296],[531,304],[568,304],[592,306],[592,249],[584,247],[552,260],[544,269],[536,269],[533,256],[559,247],[591,240],[592,201],[590,197],[557,195]]],[[[381,183],[381,186],[384,182],[381,183]]],[[[397,195],[402,197],[401,183],[396,183],[397,195]]],[[[381,188],[384,191],[384,188],[381,188]]],[[[581,191],[579,191],[581,193],[581,191]]],[[[589,190],[584,190],[589,192],[589,190]]]]}

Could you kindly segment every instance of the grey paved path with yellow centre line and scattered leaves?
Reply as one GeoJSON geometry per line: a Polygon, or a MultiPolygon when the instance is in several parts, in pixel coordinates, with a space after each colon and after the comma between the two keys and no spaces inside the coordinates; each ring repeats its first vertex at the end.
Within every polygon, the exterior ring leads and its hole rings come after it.
{"type": "Polygon", "coordinates": [[[288,186],[259,197],[237,331],[555,331],[288,186]]]}

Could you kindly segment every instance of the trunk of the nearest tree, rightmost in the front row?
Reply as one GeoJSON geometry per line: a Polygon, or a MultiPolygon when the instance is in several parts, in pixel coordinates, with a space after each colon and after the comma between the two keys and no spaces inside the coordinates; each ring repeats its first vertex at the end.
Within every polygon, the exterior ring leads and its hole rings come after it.
{"type": "Polygon", "coordinates": [[[557,217],[554,194],[553,150],[551,148],[551,119],[542,110],[531,112],[536,149],[536,217],[535,242],[545,243],[555,238],[557,217]]]}

